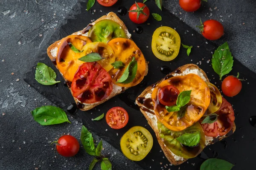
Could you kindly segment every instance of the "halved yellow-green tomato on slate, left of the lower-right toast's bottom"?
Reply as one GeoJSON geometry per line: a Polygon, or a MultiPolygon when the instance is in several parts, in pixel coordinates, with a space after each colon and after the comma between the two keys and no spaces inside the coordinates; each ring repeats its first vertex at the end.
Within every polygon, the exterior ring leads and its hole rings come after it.
{"type": "Polygon", "coordinates": [[[151,133],[141,126],[131,127],[121,138],[122,153],[132,161],[140,161],[148,155],[153,146],[151,133]]]}

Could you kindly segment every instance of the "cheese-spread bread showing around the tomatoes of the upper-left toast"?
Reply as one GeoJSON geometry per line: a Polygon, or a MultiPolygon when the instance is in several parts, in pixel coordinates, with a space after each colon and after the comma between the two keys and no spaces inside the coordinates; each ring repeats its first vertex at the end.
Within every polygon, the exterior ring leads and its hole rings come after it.
{"type": "MultiPolygon", "coordinates": [[[[104,15],[102,17],[100,17],[98,20],[94,21],[93,23],[90,23],[88,26],[91,26],[91,25],[94,25],[95,23],[101,21],[101,20],[113,20],[115,21],[116,23],[118,23],[124,30],[125,30],[125,33],[126,33],[126,36],[128,39],[132,40],[131,39],[131,34],[129,33],[127,27],[125,26],[125,24],[122,22],[122,20],[120,20],[119,17],[117,17],[117,15],[113,12],[110,12],[108,13],[107,15],[104,15]]],[[[88,27],[87,26],[87,27],[88,27]]],[[[86,28],[87,28],[86,27],[86,28]]],[[[87,37],[87,33],[83,34],[84,30],[86,29],[84,28],[83,30],[81,31],[77,31],[73,34],[77,34],[77,35],[83,35],[83,36],[86,36],[87,37]]],[[[60,44],[61,40],[58,40],[56,42],[54,42],[52,45],[50,45],[48,48],[47,48],[47,55],[49,56],[49,58],[52,60],[52,59],[55,59],[56,56],[57,56],[57,51],[58,51],[58,46],[60,44]]],[[[58,66],[55,65],[55,67],[58,69],[58,66]]],[[[146,62],[146,70],[145,70],[145,76],[148,74],[148,63],[146,62]]],[[[64,77],[63,77],[64,78],[64,77]]],[[[65,79],[65,78],[64,78],[65,79]]],[[[67,79],[65,79],[65,81],[67,82],[67,79]]],[[[68,88],[70,89],[71,93],[72,93],[72,90],[71,90],[71,82],[67,83],[68,84],[68,88]]],[[[106,99],[100,101],[100,102],[96,102],[96,103],[92,103],[92,104],[83,104],[83,108],[80,108],[82,111],[88,111],[94,107],[96,107],[97,105],[100,105],[102,104],[103,102],[107,101],[108,99],[111,99],[113,96],[116,96],[120,93],[122,93],[122,91],[125,91],[126,89],[128,88],[122,88],[120,86],[117,86],[115,84],[113,84],[113,91],[111,93],[110,96],[108,96],[106,99]]],[[[72,93],[73,95],[73,93],[72,93]]],[[[74,100],[76,101],[76,103],[79,103],[79,100],[76,99],[76,97],[74,97],[74,100]]]]}

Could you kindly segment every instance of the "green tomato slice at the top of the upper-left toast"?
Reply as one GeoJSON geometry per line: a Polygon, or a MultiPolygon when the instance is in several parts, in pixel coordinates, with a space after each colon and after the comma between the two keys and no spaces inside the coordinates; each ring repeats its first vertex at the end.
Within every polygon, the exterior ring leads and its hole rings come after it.
{"type": "Polygon", "coordinates": [[[105,42],[114,38],[127,38],[125,30],[112,20],[102,20],[96,23],[88,33],[88,37],[93,42],[105,42]]]}

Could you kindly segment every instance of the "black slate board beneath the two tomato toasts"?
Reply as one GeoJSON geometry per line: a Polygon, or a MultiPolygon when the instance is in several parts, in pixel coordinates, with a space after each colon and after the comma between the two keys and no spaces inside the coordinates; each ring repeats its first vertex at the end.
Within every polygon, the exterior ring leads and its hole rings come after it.
{"type": "MultiPolygon", "coordinates": [[[[67,23],[64,23],[61,28],[59,28],[55,35],[52,37],[49,45],[56,40],[59,40],[67,35],[72,34],[73,32],[82,30],[87,26],[88,23],[91,23],[91,20],[96,20],[102,15],[113,11],[117,13],[117,8],[119,6],[125,6],[129,8],[134,1],[128,2],[128,0],[119,0],[112,7],[102,7],[98,3],[93,6],[93,9],[96,9],[96,12],[90,10],[86,11],[86,3],[77,4],[74,8],[74,11],[80,13],[75,15],[72,19],[68,19],[67,23]],[[102,12],[100,12],[102,10],[102,12]]],[[[217,142],[214,145],[208,146],[204,149],[204,153],[201,156],[196,157],[195,159],[189,159],[188,162],[185,162],[179,166],[170,166],[169,161],[165,158],[163,152],[160,149],[160,146],[155,138],[154,132],[147,124],[146,119],[143,117],[142,113],[140,113],[139,109],[134,105],[134,101],[136,97],[143,91],[143,89],[157,82],[159,79],[163,78],[165,75],[160,72],[160,67],[163,65],[169,66],[171,70],[175,70],[177,67],[194,63],[198,64],[200,68],[202,68],[206,73],[210,81],[216,84],[218,87],[221,86],[221,81],[218,78],[218,75],[213,71],[211,62],[207,62],[212,58],[212,52],[216,49],[216,45],[213,45],[211,42],[208,42],[198,34],[195,30],[187,26],[183,23],[179,18],[175,17],[173,14],[169,13],[165,8],[161,12],[154,4],[153,1],[149,1],[146,3],[151,10],[151,13],[161,14],[163,20],[161,22],[157,22],[151,16],[148,21],[141,26],[143,26],[144,31],[142,34],[136,34],[133,31],[137,27],[136,24],[132,23],[128,14],[125,16],[119,16],[121,20],[124,21],[128,30],[132,34],[132,39],[137,43],[141,51],[147,61],[149,62],[149,71],[148,75],[144,78],[143,82],[136,87],[130,88],[119,96],[115,96],[109,101],[99,105],[95,109],[91,111],[82,112],[79,111],[75,118],[82,119],[83,124],[88,127],[90,130],[96,132],[99,136],[105,139],[107,142],[112,144],[114,147],[119,147],[119,141],[123,133],[125,133],[130,127],[140,125],[147,128],[153,138],[154,138],[154,146],[151,152],[146,156],[142,161],[137,162],[141,167],[145,169],[172,169],[178,170],[188,168],[189,170],[198,170],[201,163],[207,157],[212,158],[216,157],[220,159],[225,159],[230,161],[236,166],[233,168],[234,170],[241,170],[245,167],[255,167],[254,158],[256,157],[256,128],[252,127],[249,124],[249,117],[253,116],[254,113],[254,98],[253,94],[254,88],[256,85],[256,74],[250,71],[248,68],[243,66],[240,62],[234,59],[233,70],[230,74],[236,75],[237,72],[240,73],[240,77],[246,79],[243,82],[243,88],[239,95],[233,98],[226,97],[226,99],[233,104],[234,110],[236,113],[236,126],[237,130],[232,136],[227,139],[224,139],[223,142],[217,142]],[[148,25],[147,23],[150,23],[148,25]],[[180,48],[180,53],[178,57],[171,62],[163,62],[156,57],[151,51],[151,36],[154,30],[160,26],[170,26],[175,28],[176,31],[180,34],[181,42],[186,45],[193,45],[192,52],[188,57],[186,55],[186,49],[180,48]],[[129,122],[126,127],[121,130],[113,130],[111,129],[105,120],[101,120],[99,122],[91,121],[92,118],[99,116],[102,113],[106,113],[110,108],[115,106],[121,106],[125,108],[129,113],[129,122]],[[131,107],[130,107],[131,106],[131,107]],[[107,131],[106,131],[107,130],[107,131]],[[118,136],[117,136],[118,133],[118,136]],[[206,155],[207,156],[206,156],[206,155]],[[195,163],[195,164],[194,164],[195,163]]],[[[233,50],[236,49],[232,49],[233,50]]],[[[50,59],[47,57],[46,51],[42,52],[42,55],[35,59],[35,65],[37,62],[44,62],[51,68],[55,70],[57,73],[57,80],[64,80],[59,74],[58,70],[54,67],[50,59]]],[[[68,90],[67,87],[64,87],[63,83],[59,83],[58,87],[52,86],[44,86],[40,85],[35,81],[35,65],[32,70],[26,74],[25,81],[29,83],[32,87],[34,87],[38,92],[46,96],[53,103],[63,108],[64,110],[71,104],[74,103],[73,97],[68,90]]]]}

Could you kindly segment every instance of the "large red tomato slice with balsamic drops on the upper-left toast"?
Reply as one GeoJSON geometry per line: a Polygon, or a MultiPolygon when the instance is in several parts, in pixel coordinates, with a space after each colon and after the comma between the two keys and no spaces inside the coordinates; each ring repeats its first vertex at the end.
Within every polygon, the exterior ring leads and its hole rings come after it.
{"type": "Polygon", "coordinates": [[[102,101],[113,90],[111,76],[98,62],[85,62],[76,71],[71,90],[82,103],[102,101]]]}

